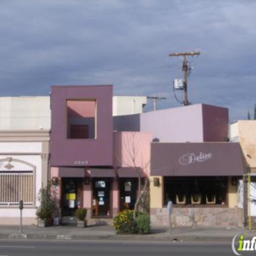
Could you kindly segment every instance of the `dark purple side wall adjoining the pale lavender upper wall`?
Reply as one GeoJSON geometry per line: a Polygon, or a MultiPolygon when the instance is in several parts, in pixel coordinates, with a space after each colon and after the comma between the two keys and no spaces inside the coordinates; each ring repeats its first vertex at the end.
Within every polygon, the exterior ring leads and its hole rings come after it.
{"type": "Polygon", "coordinates": [[[228,135],[228,108],[203,104],[203,141],[224,141],[228,135]]]}

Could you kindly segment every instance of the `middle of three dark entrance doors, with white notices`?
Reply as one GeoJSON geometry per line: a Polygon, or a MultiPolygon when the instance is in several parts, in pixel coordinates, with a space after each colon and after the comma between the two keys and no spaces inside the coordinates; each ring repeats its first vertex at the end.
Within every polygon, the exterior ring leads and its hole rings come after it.
{"type": "Polygon", "coordinates": [[[93,217],[108,217],[111,215],[111,179],[95,178],[93,180],[93,217]]]}

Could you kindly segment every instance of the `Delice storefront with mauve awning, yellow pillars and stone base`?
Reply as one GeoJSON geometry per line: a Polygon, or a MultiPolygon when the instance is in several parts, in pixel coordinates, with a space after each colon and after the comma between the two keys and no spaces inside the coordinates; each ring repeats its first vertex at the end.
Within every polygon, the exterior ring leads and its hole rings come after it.
{"type": "Polygon", "coordinates": [[[167,203],[173,203],[173,226],[242,226],[238,181],[244,175],[237,143],[153,143],[151,219],[167,225],[167,203]]]}

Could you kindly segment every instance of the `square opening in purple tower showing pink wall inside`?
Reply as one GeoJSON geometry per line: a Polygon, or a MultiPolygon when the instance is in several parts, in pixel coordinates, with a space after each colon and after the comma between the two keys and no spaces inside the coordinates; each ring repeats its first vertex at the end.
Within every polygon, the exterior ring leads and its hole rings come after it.
{"type": "Polygon", "coordinates": [[[68,99],[67,108],[67,138],[96,138],[96,100],[68,99]]]}

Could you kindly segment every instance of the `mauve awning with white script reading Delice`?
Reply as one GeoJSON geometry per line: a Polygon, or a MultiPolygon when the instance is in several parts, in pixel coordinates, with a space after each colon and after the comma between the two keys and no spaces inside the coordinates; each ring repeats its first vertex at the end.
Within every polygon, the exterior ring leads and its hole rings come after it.
{"type": "Polygon", "coordinates": [[[153,143],[151,176],[242,176],[238,143],[153,143]]]}

